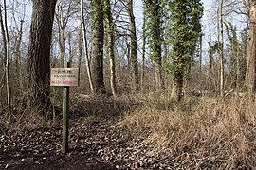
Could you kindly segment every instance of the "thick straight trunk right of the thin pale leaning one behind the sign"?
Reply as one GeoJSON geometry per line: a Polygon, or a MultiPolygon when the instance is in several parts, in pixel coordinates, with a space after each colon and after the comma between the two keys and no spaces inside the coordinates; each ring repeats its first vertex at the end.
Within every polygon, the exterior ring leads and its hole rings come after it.
{"type": "Polygon", "coordinates": [[[103,3],[102,0],[93,0],[91,2],[91,66],[92,66],[92,84],[95,93],[106,93],[103,79],[103,3]]]}

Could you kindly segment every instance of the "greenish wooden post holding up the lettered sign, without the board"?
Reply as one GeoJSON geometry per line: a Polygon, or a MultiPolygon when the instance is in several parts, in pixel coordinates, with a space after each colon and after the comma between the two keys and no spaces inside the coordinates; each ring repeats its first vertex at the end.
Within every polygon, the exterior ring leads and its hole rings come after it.
{"type": "MultiPolygon", "coordinates": [[[[69,68],[70,63],[64,62],[64,68],[69,68]]],[[[63,95],[63,153],[68,152],[68,114],[69,114],[69,87],[64,87],[63,95]]]]}

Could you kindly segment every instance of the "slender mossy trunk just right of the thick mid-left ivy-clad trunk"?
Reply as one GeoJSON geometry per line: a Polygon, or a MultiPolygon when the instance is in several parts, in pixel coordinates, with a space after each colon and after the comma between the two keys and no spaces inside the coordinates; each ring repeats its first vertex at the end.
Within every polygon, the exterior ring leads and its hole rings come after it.
{"type": "Polygon", "coordinates": [[[107,52],[109,58],[110,67],[110,85],[112,94],[114,97],[117,96],[117,85],[116,85],[116,62],[114,54],[115,35],[114,35],[114,23],[111,13],[111,5],[109,0],[105,0],[104,12],[105,12],[105,23],[107,33],[107,52]]]}

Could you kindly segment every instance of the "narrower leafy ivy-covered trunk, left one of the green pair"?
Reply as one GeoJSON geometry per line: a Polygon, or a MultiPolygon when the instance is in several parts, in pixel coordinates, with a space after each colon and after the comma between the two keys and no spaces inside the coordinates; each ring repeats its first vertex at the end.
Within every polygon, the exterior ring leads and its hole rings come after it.
{"type": "Polygon", "coordinates": [[[157,90],[164,89],[162,77],[162,56],[161,56],[161,1],[146,0],[144,1],[146,15],[146,35],[150,48],[150,59],[154,61],[155,66],[155,83],[157,90]]]}

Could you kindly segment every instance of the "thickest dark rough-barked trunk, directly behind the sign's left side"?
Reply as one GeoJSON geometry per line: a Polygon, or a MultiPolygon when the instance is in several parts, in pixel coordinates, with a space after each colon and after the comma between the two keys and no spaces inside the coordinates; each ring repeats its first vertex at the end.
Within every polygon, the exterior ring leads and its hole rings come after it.
{"type": "Polygon", "coordinates": [[[31,106],[45,114],[50,103],[50,45],[56,0],[34,0],[28,46],[31,106]]]}

